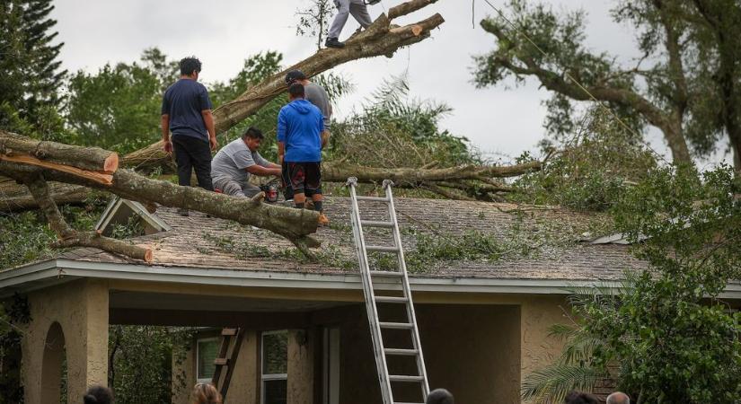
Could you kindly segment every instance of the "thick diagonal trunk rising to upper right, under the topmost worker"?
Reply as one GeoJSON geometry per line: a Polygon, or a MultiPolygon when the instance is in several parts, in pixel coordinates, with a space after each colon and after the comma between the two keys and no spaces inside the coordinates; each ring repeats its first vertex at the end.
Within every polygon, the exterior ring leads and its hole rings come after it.
{"type": "MultiPolygon", "coordinates": [[[[412,0],[394,7],[393,18],[419,10],[425,5],[436,3],[437,0],[412,0]],[[395,10],[395,11],[394,11],[395,10]]],[[[251,114],[260,110],[260,107],[287,91],[285,77],[288,71],[298,69],[305,75],[319,75],[332,67],[340,66],[352,60],[366,57],[390,56],[399,48],[417,43],[429,38],[430,31],[445,22],[443,17],[436,13],[426,20],[395,27],[391,24],[393,18],[381,14],[365,31],[361,31],[345,42],[345,48],[326,48],[318,51],[312,57],[288,67],[283,72],[269,77],[262,83],[251,87],[234,101],[226,102],[214,110],[216,133],[234,127],[251,114]]],[[[154,167],[172,165],[172,158],[163,152],[162,142],[157,142],[143,149],[127,154],[122,164],[129,168],[151,170],[154,167]]]]}

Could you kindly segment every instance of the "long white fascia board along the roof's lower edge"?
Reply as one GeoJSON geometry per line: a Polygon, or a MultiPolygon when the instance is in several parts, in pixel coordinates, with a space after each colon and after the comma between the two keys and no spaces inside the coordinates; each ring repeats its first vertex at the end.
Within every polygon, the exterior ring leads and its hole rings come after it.
{"type": "MultiPolygon", "coordinates": [[[[0,294],[4,288],[25,289],[28,283],[57,281],[60,277],[93,277],[191,285],[280,287],[296,289],[362,290],[356,274],[308,274],[300,272],[249,271],[224,268],[182,268],[111,264],[56,259],[0,273],[0,294]]],[[[617,281],[569,279],[501,279],[476,277],[410,277],[415,292],[483,294],[571,294],[574,288],[600,286],[618,289],[617,281]]],[[[393,290],[399,285],[376,283],[376,289],[393,290]]],[[[34,285],[38,288],[38,284],[34,285]]],[[[741,285],[728,285],[721,298],[741,299],[741,285]]]]}

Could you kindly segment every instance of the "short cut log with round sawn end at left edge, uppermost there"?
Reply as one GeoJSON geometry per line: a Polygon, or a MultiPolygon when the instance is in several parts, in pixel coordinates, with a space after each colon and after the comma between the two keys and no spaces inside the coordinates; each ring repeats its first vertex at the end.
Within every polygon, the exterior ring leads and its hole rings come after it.
{"type": "Polygon", "coordinates": [[[108,150],[45,142],[4,130],[0,130],[0,159],[78,174],[93,171],[98,178],[119,168],[119,155],[108,150]]]}

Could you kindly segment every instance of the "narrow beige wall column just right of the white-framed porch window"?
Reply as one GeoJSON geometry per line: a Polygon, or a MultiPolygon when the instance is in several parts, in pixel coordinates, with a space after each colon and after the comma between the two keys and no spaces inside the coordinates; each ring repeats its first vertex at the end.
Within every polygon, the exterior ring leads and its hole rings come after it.
{"type": "Polygon", "coordinates": [[[314,338],[313,329],[288,330],[287,404],[313,404],[314,338]]]}

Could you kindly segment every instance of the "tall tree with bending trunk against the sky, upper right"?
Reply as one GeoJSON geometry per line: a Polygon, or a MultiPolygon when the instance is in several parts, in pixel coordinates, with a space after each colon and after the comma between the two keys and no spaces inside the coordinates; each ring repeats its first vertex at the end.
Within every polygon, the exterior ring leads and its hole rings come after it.
{"type": "MultiPolygon", "coordinates": [[[[741,12],[741,6],[731,1],[708,3],[713,4],[710,18],[725,17],[723,26],[732,24],[741,12]]],[[[737,85],[731,83],[737,83],[739,75],[730,62],[736,60],[739,36],[734,31],[712,31],[710,22],[702,20],[701,4],[705,2],[618,2],[613,19],[633,25],[642,54],[635,66],[625,67],[616,57],[587,48],[584,13],[559,15],[544,4],[512,0],[507,18],[516,30],[501,17],[481,22],[485,31],[496,36],[497,48],[475,57],[474,81],[487,86],[508,77],[517,83],[536,78],[553,92],[546,102],[545,127],[554,136],[573,128],[575,101],[591,101],[594,96],[637,131],[647,125],[661,130],[675,162],[691,162],[691,152],[709,155],[722,136],[738,154],[737,103],[724,91],[736,91],[737,85]],[[728,57],[720,57],[722,49],[727,49],[728,57]],[[716,108],[728,103],[733,103],[728,110],[716,108]],[[715,124],[707,127],[708,121],[715,124]]]]}

